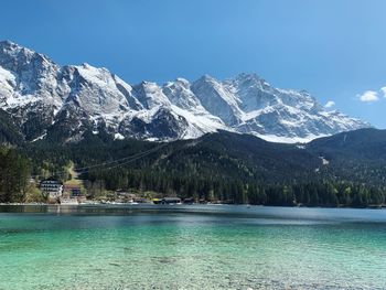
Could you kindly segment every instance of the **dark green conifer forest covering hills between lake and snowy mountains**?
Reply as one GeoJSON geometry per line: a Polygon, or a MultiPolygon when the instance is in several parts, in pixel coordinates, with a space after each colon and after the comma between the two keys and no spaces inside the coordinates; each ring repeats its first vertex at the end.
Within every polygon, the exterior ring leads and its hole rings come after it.
{"type": "Polygon", "coordinates": [[[386,196],[386,136],[365,129],[307,146],[219,132],[169,143],[85,136],[78,143],[37,141],[0,151],[0,202],[23,202],[30,178],[71,179],[73,162],[87,195],[154,192],[264,205],[375,206],[386,196]]]}

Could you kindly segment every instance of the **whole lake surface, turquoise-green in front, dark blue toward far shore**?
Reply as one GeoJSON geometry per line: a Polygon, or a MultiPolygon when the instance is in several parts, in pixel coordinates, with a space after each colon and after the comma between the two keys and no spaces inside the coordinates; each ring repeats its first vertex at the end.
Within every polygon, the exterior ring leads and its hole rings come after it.
{"type": "Polygon", "coordinates": [[[386,289],[386,211],[0,206],[0,289],[386,289]]]}

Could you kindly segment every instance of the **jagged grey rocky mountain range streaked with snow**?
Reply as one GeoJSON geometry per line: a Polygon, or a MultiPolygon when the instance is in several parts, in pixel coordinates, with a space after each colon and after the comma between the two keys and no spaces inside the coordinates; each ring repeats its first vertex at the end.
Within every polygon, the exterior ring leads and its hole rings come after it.
{"type": "Polygon", "coordinates": [[[174,140],[222,129],[298,142],[369,127],[326,110],[307,92],[275,88],[255,74],[129,85],[106,68],[62,67],[8,41],[0,42],[0,109],[26,141],[77,141],[86,132],[174,140]]]}

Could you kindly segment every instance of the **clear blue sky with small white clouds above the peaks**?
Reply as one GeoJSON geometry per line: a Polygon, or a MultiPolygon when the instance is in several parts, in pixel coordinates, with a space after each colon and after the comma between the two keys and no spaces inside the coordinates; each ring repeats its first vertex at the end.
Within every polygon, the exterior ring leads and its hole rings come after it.
{"type": "Polygon", "coordinates": [[[386,128],[385,0],[3,0],[0,39],[129,84],[256,73],[386,128]]]}

